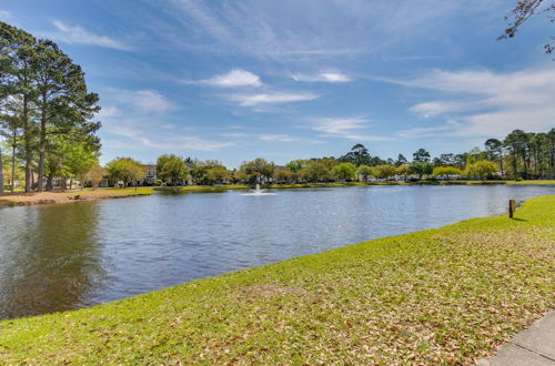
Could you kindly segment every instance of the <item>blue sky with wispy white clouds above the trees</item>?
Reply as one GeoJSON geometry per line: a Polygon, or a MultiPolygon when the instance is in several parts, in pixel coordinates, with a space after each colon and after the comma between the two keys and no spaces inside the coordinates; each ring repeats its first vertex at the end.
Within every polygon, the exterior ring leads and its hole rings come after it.
{"type": "Polygon", "coordinates": [[[9,1],[100,94],[102,161],[463,152],[555,125],[553,23],[515,0],[9,1]]]}

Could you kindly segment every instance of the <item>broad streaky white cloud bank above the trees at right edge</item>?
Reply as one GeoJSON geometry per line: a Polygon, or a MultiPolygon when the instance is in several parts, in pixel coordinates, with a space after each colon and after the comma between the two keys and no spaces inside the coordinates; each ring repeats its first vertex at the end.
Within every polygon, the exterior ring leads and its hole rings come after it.
{"type": "Polygon", "coordinates": [[[392,81],[438,93],[411,111],[441,118],[438,125],[400,131],[402,136],[503,136],[515,129],[546,131],[554,125],[555,70],[496,73],[487,70],[435,70],[408,81],[392,81]]]}

